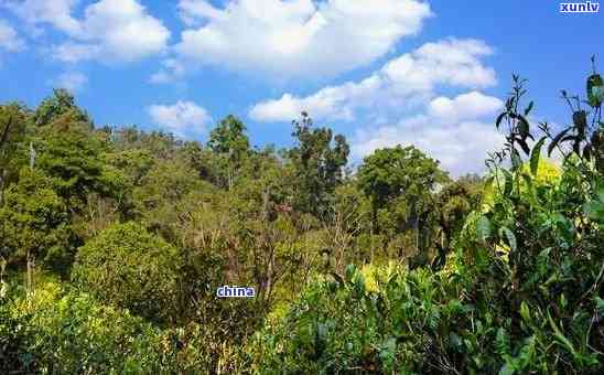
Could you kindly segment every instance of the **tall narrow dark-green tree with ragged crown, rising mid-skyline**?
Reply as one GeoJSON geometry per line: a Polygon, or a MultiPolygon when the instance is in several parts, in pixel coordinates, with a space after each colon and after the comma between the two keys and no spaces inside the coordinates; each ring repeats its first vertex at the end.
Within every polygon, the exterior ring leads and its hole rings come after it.
{"type": "Polygon", "coordinates": [[[342,135],[330,128],[313,129],[306,113],[293,121],[298,144],[288,152],[293,168],[295,202],[299,210],[323,216],[334,189],[342,183],[350,149],[342,135]]]}

